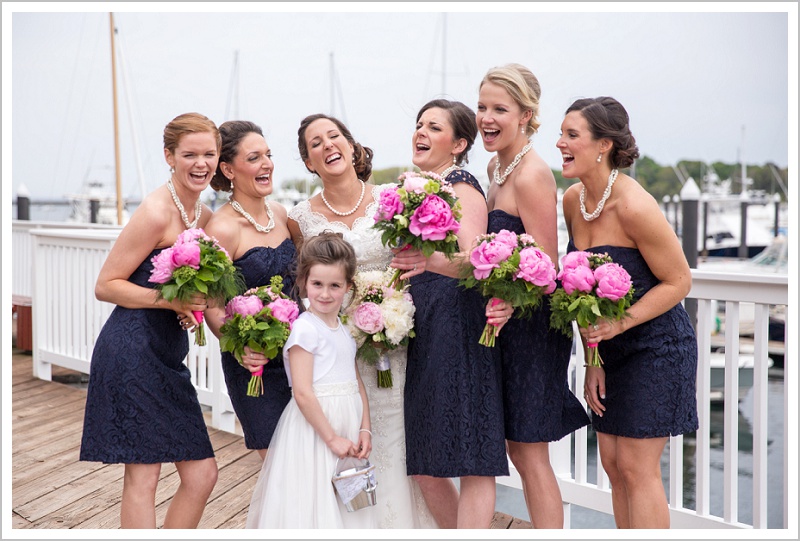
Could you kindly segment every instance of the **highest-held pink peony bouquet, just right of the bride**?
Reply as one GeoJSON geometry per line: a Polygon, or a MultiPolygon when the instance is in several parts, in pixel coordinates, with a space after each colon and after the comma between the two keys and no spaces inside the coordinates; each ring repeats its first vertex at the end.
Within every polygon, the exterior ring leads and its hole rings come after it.
{"type": "MultiPolygon", "coordinates": [[[[442,252],[447,257],[459,251],[458,233],[461,203],[453,186],[436,173],[408,171],[396,186],[381,192],[373,227],[383,231],[384,246],[409,246],[425,256],[442,252]]],[[[402,289],[396,270],[390,284],[402,289]]]]}

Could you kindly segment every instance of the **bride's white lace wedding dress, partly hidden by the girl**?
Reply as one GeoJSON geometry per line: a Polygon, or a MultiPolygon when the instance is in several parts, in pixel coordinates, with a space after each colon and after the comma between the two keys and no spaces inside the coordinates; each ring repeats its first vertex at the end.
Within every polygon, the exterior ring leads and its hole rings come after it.
{"type": "MultiPolygon", "coordinates": [[[[297,222],[303,238],[319,235],[323,231],[341,233],[355,249],[358,271],[384,270],[392,260],[392,252],[381,244],[381,232],[372,227],[378,209],[381,190],[389,185],[372,186],[372,203],[364,216],[356,218],[353,228],[311,210],[308,201],[298,203],[289,211],[289,218],[297,222]]],[[[369,185],[368,185],[369,187],[369,185]]],[[[406,348],[389,353],[394,386],[378,387],[377,369],[358,361],[361,379],[367,388],[372,420],[372,454],[375,464],[377,512],[380,528],[437,528],[419,485],[406,474],[406,433],[403,417],[403,389],[406,381],[406,348]]]]}

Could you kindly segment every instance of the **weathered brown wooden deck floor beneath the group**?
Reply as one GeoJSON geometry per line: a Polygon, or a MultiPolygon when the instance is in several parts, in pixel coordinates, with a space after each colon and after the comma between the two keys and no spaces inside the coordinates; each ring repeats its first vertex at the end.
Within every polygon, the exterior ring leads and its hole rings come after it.
{"type": "MultiPolygon", "coordinates": [[[[71,373],[53,367],[53,375],[71,373]]],[[[86,390],[33,377],[31,355],[14,350],[11,392],[11,528],[118,529],[124,466],[79,461],[86,390]]],[[[200,528],[243,529],[261,457],[240,434],[209,427],[209,436],[219,477],[200,528]]],[[[174,464],[164,464],[160,478],[157,524],[180,482],[174,464]]],[[[496,513],[492,528],[525,524],[496,513]]]]}

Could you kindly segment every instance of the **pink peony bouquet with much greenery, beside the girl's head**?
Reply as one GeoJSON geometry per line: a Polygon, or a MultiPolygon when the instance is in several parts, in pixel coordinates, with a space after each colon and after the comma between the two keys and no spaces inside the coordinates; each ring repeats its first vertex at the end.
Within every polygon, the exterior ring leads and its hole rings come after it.
{"type": "MultiPolygon", "coordinates": [[[[300,307],[283,293],[283,279],[273,276],[268,286],[247,290],[225,306],[220,327],[219,345],[222,351],[233,353],[242,364],[245,346],[274,358],[283,348],[300,314],[300,307]]],[[[252,373],[247,396],[264,394],[264,367],[252,373]]]]}

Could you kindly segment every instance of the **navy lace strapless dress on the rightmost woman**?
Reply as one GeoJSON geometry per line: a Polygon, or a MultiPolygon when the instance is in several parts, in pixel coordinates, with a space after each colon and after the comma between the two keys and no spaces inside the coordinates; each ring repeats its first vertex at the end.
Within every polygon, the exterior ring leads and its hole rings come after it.
{"type": "MultiPolygon", "coordinates": [[[[575,251],[570,239],[567,251],[575,251]]],[[[595,246],[633,279],[634,302],[658,284],[636,248],[595,246]]],[[[678,303],[598,346],[606,373],[606,411],[592,415],[597,432],[626,438],[658,438],[694,432],[697,420],[697,338],[678,303]]]]}

